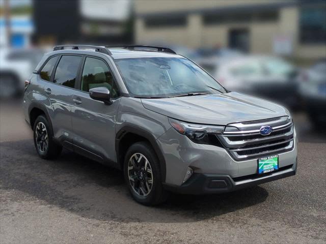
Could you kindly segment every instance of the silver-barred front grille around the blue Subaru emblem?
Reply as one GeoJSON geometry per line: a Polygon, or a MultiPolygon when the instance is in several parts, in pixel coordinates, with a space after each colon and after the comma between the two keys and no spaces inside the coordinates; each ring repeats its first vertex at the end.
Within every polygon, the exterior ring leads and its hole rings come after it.
{"type": "Polygon", "coordinates": [[[225,131],[218,138],[237,161],[280,154],[293,148],[293,124],[288,116],[235,123],[228,127],[232,130],[225,131]],[[273,132],[264,136],[259,130],[266,125],[273,128],[273,132]]]}

